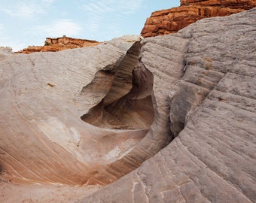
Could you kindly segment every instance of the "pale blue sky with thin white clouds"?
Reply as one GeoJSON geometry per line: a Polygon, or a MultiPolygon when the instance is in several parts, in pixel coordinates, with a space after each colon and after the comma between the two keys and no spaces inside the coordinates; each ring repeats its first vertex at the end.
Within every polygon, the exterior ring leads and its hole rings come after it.
{"type": "Polygon", "coordinates": [[[154,11],[179,0],[0,0],[0,46],[14,51],[62,35],[108,41],[139,35],[154,11]]]}

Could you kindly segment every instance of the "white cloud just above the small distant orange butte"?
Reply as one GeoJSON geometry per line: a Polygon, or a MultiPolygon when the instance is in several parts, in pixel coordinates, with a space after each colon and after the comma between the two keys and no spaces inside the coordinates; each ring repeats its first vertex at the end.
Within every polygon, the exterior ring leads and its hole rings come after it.
{"type": "Polygon", "coordinates": [[[43,26],[36,26],[34,33],[41,33],[47,37],[61,37],[67,35],[74,37],[81,32],[81,26],[69,19],[56,20],[53,23],[43,26]]]}

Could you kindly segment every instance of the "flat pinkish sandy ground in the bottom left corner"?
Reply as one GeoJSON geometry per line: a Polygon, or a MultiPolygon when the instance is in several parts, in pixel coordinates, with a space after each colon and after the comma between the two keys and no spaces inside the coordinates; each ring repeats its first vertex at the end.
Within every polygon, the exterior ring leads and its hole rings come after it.
{"type": "Polygon", "coordinates": [[[0,177],[1,203],[58,203],[75,202],[96,192],[101,186],[66,186],[43,184],[20,184],[0,177]]]}

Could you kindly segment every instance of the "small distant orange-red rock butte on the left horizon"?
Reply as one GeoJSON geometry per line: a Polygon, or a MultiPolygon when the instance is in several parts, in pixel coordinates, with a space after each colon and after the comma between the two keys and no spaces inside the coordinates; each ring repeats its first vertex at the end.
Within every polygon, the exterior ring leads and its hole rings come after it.
{"type": "Polygon", "coordinates": [[[44,46],[29,46],[23,50],[17,51],[16,53],[56,52],[59,50],[79,47],[91,47],[96,46],[97,44],[100,44],[100,42],[63,36],[62,38],[46,38],[44,46]]]}

